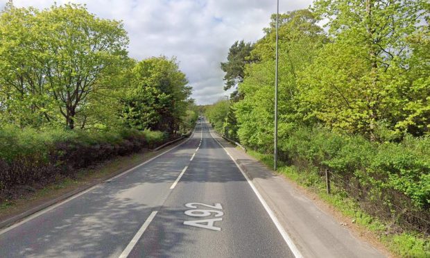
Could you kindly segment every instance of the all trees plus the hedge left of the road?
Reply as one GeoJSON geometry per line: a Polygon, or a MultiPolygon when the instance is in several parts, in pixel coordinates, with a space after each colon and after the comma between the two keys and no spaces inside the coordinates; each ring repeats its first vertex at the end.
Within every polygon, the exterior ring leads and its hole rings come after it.
{"type": "Polygon", "coordinates": [[[121,22],[85,6],[1,10],[0,203],[193,128],[175,58],[134,60],[127,47],[121,22]]]}

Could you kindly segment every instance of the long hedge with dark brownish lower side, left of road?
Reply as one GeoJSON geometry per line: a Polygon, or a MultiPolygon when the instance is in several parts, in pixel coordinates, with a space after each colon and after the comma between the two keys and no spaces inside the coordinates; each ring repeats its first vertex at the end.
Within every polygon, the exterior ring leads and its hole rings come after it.
{"type": "Polygon", "coordinates": [[[51,129],[42,132],[13,126],[0,128],[0,193],[17,185],[44,184],[58,175],[168,139],[163,132],[123,129],[112,132],[51,129]]]}

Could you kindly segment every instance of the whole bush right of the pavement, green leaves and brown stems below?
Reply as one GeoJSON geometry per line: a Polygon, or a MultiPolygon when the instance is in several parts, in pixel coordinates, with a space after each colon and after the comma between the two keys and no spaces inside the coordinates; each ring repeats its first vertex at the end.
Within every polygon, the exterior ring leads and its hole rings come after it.
{"type": "Polygon", "coordinates": [[[279,139],[279,150],[284,162],[319,171],[321,179],[327,169],[366,212],[429,233],[430,137],[377,143],[320,127],[297,128],[279,139]]]}

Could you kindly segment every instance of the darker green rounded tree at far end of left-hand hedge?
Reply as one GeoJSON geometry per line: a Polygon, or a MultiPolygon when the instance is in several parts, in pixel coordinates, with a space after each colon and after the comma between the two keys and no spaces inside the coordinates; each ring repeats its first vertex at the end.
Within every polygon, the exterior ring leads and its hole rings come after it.
{"type": "Polygon", "coordinates": [[[132,69],[122,117],[133,128],[174,133],[187,117],[191,87],[175,58],[148,58],[132,69]]]}

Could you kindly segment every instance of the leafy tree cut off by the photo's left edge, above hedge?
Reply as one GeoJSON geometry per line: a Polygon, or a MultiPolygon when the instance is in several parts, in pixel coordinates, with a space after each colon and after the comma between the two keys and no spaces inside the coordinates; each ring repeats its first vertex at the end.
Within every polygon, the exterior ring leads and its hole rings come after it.
{"type": "Polygon", "coordinates": [[[53,116],[44,82],[44,54],[37,43],[37,15],[37,10],[15,8],[12,2],[0,13],[1,121],[22,127],[41,126],[53,116]]]}

